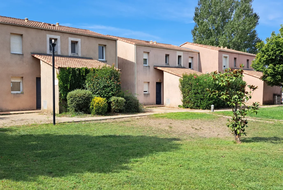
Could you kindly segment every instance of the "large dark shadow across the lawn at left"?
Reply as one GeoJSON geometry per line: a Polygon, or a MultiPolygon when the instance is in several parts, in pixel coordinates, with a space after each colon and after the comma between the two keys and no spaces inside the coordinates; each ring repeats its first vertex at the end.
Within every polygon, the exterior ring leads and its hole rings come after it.
{"type": "Polygon", "coordinates": [[[1,131],[0,179],[16,181],[130,170],[131,159],[179,147],[174,142],[179,139],[152,136],[11,135],[1,131]]]}

